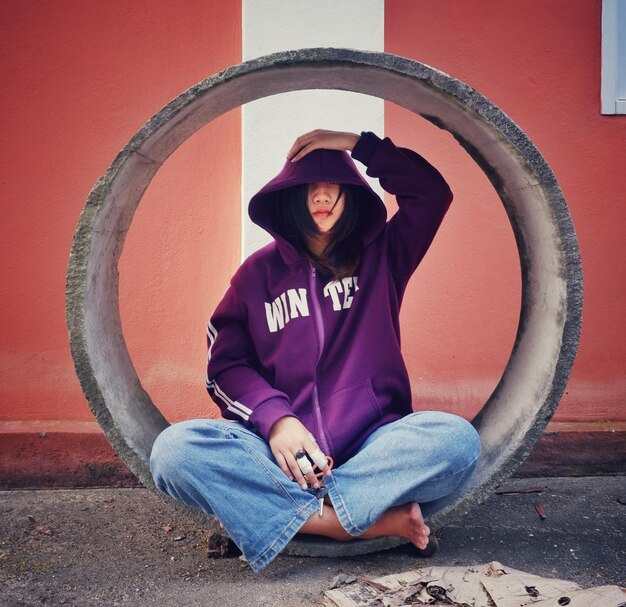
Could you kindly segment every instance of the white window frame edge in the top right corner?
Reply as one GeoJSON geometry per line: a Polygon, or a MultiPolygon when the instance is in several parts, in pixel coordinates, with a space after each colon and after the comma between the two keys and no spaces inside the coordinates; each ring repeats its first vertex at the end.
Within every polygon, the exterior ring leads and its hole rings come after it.
{"type": "Polygon", "coordinates": [[[626,0],[602,0],[602,113],[626,114],[626,0]]]}

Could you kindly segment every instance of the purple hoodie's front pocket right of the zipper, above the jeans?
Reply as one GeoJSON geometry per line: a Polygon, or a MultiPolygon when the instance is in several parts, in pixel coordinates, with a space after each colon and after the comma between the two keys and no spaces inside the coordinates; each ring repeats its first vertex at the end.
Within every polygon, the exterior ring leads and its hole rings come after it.
{"type": "Polygon", "coordinates": [[[370,379],[333,392],[324,406],[324,418],[336,457],[340,461],[350,457],[381,416],[370,379]]]}

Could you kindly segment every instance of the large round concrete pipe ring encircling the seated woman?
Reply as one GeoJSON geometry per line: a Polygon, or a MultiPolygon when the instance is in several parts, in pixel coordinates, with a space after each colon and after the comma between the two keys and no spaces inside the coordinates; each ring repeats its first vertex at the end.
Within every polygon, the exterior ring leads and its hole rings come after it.
{"type": "MultiPolygon", "coordinates": [[[[74,236],[67,323],[76,371],[108,440],[152,487],[150,450],[168,422],[142,388],[122,334],[117,262],[126,232],[150,180],[196,130],[244,103],[304,89],[373,95],[449,131],[490,179],[515,234],[522,269],[515,344],[498,386],[473,420],[483,454],[470,490],[440,504],[430,519],[440,527],[486,499],[526,458],[554,413],[578,346],[582,271],[565,200],[535,146],[482,95],[427,65],[347,49],[281,52],[200,82],[151,118],[96,182],[74,236]]],[[[298,539],[287,552],[355,555],[400,543],[298,539]]]]}

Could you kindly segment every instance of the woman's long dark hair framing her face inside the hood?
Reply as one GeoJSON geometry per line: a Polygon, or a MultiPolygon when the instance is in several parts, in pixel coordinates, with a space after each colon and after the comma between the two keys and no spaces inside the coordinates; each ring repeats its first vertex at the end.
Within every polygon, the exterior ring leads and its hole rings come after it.
{"type": "Polygon", "coordinates": [[[361,212],[355,188],[341,185],[339,198],[345,196],[344,210],[330,230],[328,245],[318,257],[308,247],[308,239],[319,234],[309,212],[308,185],[276,192],[275,221],[278,233],[289,241],[319,272],[334,280],[351,276],[361,260],[361,212]]]}

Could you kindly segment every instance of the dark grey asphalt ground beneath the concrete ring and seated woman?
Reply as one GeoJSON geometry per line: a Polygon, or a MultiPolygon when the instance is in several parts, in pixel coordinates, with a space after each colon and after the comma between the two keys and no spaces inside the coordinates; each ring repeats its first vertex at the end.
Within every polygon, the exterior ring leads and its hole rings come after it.
{"type": "Polygon", "coordinates": [[[626,477],[512,479],[499,490],[529,488],[541,493],[494,494],[440,529],[429,559],[410,546],[280,556],[258,574],[237,556],[207,558],[206,530],[146,489],[1,492],[0,605],[306,607],[339,573],[493,560],[583,587],[626,586],[626,477]]]}

